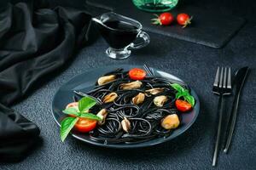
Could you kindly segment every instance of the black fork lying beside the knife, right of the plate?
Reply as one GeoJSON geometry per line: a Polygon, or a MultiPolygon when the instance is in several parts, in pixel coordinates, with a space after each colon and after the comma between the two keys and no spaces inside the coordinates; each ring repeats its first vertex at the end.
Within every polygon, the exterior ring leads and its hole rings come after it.
{"type": "Polygon", "coordinates": [[[215,81],[213,83],[212,92],[214,94],[217,94],[218,97],[218,131],[217,131],[217,137],[216,137],[216,143],[214,148],[214,154],[212,158],[212,167],[215,167],[217,157],[218,157],[218,147],[219,147],[219,140],[220,140],[220,133],[222,128],[222,119],[223,119],[223,102],[222,97],[224,95],[230,95],[232,94],[232,88],[231,88],[231,69],[230,67],[223,68],[221,67],[220,73],[219,73],[219,67],[216,72],[215,81]]]}

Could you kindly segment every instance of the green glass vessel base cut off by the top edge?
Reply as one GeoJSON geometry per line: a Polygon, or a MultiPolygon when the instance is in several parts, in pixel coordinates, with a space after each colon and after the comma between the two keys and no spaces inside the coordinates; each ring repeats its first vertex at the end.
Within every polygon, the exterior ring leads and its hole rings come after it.
{"type": "Polygon", "coordinates": [[[165,12],[177,5],[178,0],[132,0],[137,8],[148,12],[165,12]]]}

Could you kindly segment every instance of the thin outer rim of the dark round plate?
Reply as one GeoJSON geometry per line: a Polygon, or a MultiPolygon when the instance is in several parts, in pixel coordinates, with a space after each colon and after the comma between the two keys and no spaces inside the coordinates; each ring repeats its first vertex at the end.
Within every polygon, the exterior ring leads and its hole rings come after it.
{"type": "MultiPolygon", "coordinates": [[[[57,90],[55,91],[55,94],[53,96],[53,99],[51,101],[51,115],[53,116],[54,120],[55,120],[55,123],[61,127],[61,124],[56,120],[55,118],[55,113],[54,113],[54,101],[55,101],[55,96],[58,94],[58,92],[60,91],[60,89],[66,85],[68,82],[70,82],[71,80],[73,80],[73,78],[75,77],[79,77],[80,75],[83,75],[85,74],[86,72],[90,72],[90,71],[94,71],[96,69],[104,69],[104,68],[111,68],[111,67],[116,67],[116,68],[122,68],[122,67],[139,67],[139,68],[143,68],[143,65],[108,65],[108,66],[102,66],[102,67],[96,67],[96,68],[91,68],[87,71],[83,71],[82,73],[79,73],[78,75],[74,75],[73,77],[71,77],[70,79],[68,79],[66,82],[62,83],[61,87],[57,88],[57,90]]],[[[153,69],[154,71],[161,71],[159,69],[156,69],[154,67],[149,67],[151,69],[153,69]]],[[[166,72],[166,71],[161,71],[161,72],[165,72],[167,73],[168,75],[171,75],[172,77],[175,77],[177,78],[178,80],[181,80],[182,82],[184,82],[182,79],[180,79],[179,77],[176,77],[172,74],[170,74],[169,72],[166,72]]],[[[193,96],[196,97],[196,105],[198,105],[198,111],[195,111],[195,118],[188,123],[188,125],[186,127],[183,128],[183,130],[180,132],[180,133],[177,133],[177,135],[174,135],[174,136],[169,136],[167,138],[159,138],[161,140],[157,140],[155,141],[154,143],[151,143],[151,144],[143,144],[144,142],[142,143],[137,143],[137,144],[103,144],[103,143],[99,143],[99,142],[96,142],[96,141],[93,141],[93,140],[87,140],[87,139],[83,139],[83,138],[80,138],[78,135],[74,134],[74,133],[70,133],[73,138],[75,139],[79,139],[80,141],[86,143],[86,144],[91,144],[91,145],[96,145],[96,146],[100,146],[100,147],[104,147],[104,148],[114,148],[114,149],[132,149],[132,148],[144,148],[144,147],[149,147],[149,146],[153,146],[153,145],[157,145],[157,144],[164,144],[166,143],[167,141],[171,141],[172,139],[175,139],[177,138],[178,136],[182,135],[184,132],[186,132],[189,127],[191,127],[194,123],[195,123],[195,120],[197,119],[197,117],[199,116],[200,114],[200,99],[198,97],[198,95],[195,93],[195,90],[194,88],[190,88],[190,91],[191,91],[191,94],[194,94],[193,96]],[[142,145],[141,145],[142,144],[142,145]]],[[[150,141],[150,140],[149,140],[150,141]]]]}

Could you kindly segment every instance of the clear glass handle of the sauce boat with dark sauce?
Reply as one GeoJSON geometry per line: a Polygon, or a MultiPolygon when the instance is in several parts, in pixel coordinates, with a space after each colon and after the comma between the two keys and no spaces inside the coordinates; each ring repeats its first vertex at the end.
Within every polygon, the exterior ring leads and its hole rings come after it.
{"type": "Polygon", "coordinates": [[[128,49],[138,49],[138,48],[143,48],[148,45],[150,42],[150,37],[148,34],[144,31],[140,31],[137,34],[137,39],[135,42],[131,42],[130,45],[128,45],[128,49]]]}

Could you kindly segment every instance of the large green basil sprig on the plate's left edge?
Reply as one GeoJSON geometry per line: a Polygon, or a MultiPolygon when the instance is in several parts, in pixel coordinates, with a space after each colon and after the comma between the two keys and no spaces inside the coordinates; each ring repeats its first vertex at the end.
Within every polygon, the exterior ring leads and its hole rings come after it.
{"type": "Polygon", "coordinates": [[[79,107],[69,107],[62,111],[67,115],[73,115],[75,117],[66,117],[61,121],[61,140],[62,142],[67,138],[67,134],[70,133],[76,122],[79,121],[79,117],[93,119],[96,121],[102,121],[99,116],[88,113],[91,107],[96,105],[96,100],[90,97],[84,97],[79,100],[79,107]]]}

